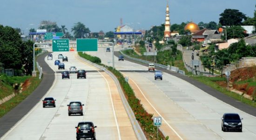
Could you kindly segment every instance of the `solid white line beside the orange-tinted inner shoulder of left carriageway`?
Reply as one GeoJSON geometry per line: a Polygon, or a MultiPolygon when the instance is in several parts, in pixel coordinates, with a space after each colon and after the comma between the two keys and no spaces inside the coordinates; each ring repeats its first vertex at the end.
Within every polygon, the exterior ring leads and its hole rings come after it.
{"type": "MultiPolygon", "coordinates": [[[[81,59],[79,59],[79,60],[80,60],[81,62],[83,62],[84,64],[86,64],[87,66],[89,66],[89,67],[95,69],[94,67],[88,65],[85,61],[83,61],[83,60],[81,60],[81,59]]],[[[96,71],[97,71],[98,73],[100,73],[99,70],[96,69],[96,71]]],[[[100,74],[101,74],[101,73],[100,73],[100,74]]],[[[118,122],[117,122],[117,118],[116,118],[116,115],[115,115],[115,107],[114,107],[114,103],[113,103],[112,96],[111,96],[110,86],[109,86],[108,80],[105,78],[105,76],[103,76],[102,74],[101,74],[101,76],[105,79],[105,81],[106,81],[107,84],[108,84],[108,92],[109,92],[109,95],[110,95],[110,100],[111,100],[111,104],[112,104],[112,110],[113,110],[114,117],[115,117],[115,124],[116,124],[116,128],[117,128],[118,139],[121,140],[121,134],[120,134],[120,130],[119,130],[119,125],[118,125],[118,122]]]]}

